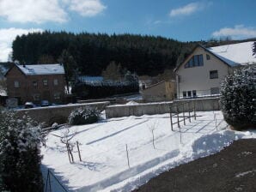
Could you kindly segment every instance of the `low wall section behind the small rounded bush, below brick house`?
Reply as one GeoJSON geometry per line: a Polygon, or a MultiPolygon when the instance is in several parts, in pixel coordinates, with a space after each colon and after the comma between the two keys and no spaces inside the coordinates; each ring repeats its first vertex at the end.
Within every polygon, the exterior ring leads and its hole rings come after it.
{"type": "Polygon", "coordinates": [[[29,117],[32,117],[35,121],[39,123],[45,123],[44,126],[47,127],[52,126],[52,123],[67,123],[70,112],[75,110],[76,108],[88,106],[93,109],[97,108],[98,110],[103,111],[109,104],[110,103],[108,101],[105,101],[87,104],[58,105],[18,110],[16,112],[20,117],[27,113],[29,117]]]}

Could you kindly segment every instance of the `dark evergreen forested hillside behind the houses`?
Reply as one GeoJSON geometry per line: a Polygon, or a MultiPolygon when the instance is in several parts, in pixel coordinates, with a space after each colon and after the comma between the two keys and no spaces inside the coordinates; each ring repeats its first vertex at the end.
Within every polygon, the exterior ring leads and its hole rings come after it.
{"type": "MultiPolygon", "coordinates": [[[[252,40],[252,39],[250,39],[252,40]]],[[[247,40],[210,39],[181,42],[160,36],[106,33],[44,32],[17,36],[13,60],[21,63],[70,63],[82,75],[101,75],[111,62],[137,75],[158,75],[174,69],[198,43],[225,45],[247,40]]]]}

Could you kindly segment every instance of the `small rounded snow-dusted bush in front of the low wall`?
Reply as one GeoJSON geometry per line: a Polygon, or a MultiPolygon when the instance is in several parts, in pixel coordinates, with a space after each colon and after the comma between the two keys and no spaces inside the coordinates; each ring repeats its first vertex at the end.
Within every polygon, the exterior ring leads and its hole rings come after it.
{"type": "Polygon", "coordinates": [[[78,108],[70,113],[69,123],[71,125],[89,124],[98,121],[100,111],[89,107],[78,108]]]}

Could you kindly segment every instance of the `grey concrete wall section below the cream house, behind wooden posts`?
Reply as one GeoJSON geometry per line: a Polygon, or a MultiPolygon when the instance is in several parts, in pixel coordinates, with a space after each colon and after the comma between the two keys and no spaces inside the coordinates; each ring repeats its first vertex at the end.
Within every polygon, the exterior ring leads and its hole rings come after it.
{"type": "Polygon", "coordinates": [[[218,105],[218,97],[215,98],[204,98],[204,99],[182,99],[175,100],[171,102],[162,102],[162,103],[149,103],[149,104],[138,104],[138,105],[110,105],[106,108],[106,117],[129,117],[129,116],[143,116],[154,115],[154,114],[164,114],[169,113],[170,110],[172,112],[176,112],[176,105],[178,106],[178,110],[182,111],[183,106],[180,105],[182,103],[190,103],[184,105],[185,111],[192,108],[195,104],[196,111],[213,111],[219,110],[218,105]]]}

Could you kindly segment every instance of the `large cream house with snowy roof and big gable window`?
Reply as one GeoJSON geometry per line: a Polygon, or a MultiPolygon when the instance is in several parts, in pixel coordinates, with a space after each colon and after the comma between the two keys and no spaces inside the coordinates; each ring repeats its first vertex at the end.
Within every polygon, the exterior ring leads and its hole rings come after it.
{"type": "Polygon", "coordinates": [[[222,79],[235,68],[255,64],[253,41],[206,48],[198,45],[174,69],[178,98],[218,94],[222,79]]]}

